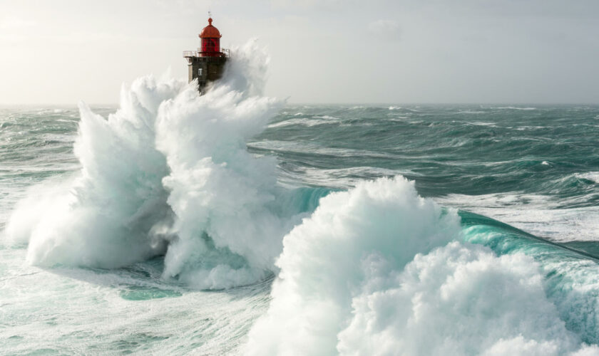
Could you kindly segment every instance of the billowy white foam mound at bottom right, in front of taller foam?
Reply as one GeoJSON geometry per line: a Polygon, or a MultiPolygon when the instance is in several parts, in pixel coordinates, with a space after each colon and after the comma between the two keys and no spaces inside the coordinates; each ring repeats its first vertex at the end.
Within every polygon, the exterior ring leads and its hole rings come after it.
{"type": "Polygon", "coordinates": [[[339,333],[344,355],[564,355],[580,345],[546,298],[538,266],[521,254],[453,242],[404,271],[369,271],[339,333]]]}

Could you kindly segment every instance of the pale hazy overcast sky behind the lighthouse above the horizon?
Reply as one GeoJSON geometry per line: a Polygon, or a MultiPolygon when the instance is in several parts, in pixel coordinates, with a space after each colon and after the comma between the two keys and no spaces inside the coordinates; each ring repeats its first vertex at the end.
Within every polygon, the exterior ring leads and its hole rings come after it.
{"type": "Polygon", "coordinates": [[[597,0],[0,0],[0,105],[186,78],[208,10],[292,103],[599,103],[597,0]]]}

